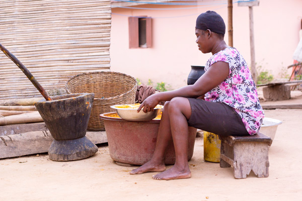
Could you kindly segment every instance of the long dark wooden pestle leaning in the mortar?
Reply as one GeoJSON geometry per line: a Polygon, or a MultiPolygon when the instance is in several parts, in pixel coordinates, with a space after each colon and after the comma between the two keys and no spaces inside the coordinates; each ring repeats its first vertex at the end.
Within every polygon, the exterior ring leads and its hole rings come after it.
{"type": "Polygon", "coordinates": [[[9,50],[7,50],[3,45],[0,44],[0,49],[3,51],[14,63],[22,70],[22,72],[27,76],[27,78],[33,83],[33,85],[38,89],[38,91],[43,95],[46,100],[52,100],[52,98],[47,94],[45,89],[39,84],[36,78],[31,74],[31,72],[15,57],[9,50]]]}

